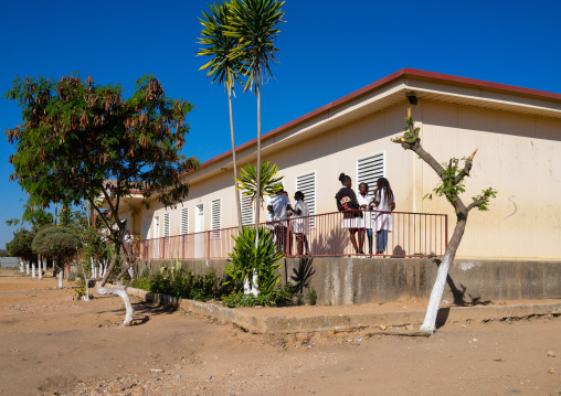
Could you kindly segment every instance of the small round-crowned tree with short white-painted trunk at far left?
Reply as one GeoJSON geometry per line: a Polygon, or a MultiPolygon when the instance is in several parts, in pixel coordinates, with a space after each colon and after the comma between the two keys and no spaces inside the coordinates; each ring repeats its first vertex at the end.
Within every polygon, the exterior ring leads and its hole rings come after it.
{"type": "Polygon", "coordinates": [[[64,265],[77,255],[81,246],[82,242],[78,235],[63,226],[41,229],[31,243],[34,253],[52,258],[55,265],[59,266],[60,289],[62,289],[64,277],[64,265]]]}

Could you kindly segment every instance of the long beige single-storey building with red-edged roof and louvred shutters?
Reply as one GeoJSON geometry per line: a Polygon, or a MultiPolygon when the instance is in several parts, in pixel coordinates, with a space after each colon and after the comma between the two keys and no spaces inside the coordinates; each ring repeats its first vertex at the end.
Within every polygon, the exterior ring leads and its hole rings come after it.
{"type": "MultiPolygon", "coordinates": [[[[559,260],[560,94],[403,68],[263,135],[262,159],[279,167],[290,201],[295,191],[304,191],[310,214],[318,216],[337,211],[341,172],[352,178],[353,189],[367,181],[372,190],[378,178],[387,178],[396,197],[389,254],[399,248],[403,256],[438,256],[452,236],[455,215],[444,197],[423,199],[437,185],[436,174],[390,140],[402,135],[407,108],[421,128],[422,146],[440,162],[478,149],[466,179],[465,203],[489,186],[498,191],[488,212],[469,213],[457,257],[559,260]]],[[[256,141],[237,147],[236,156],[240,167],[255,164],[256,141]]],[[[150,245],[145,258],[225,257],[231,237],[223,229],[237,225],[232,175],[229,151],[184,175],[189,196],[176,208],[165,208],[156,199],[147,210],[140,197],[130,196],[128,205],[121,205],[121,218],[133,234],[146,240],[144,246],[163,240],[150,245]],[[168,253],[162,251],[166,246],[168,253]]],[[[252,224],[246,199],[242,212],[243,223],[252,224]]],[[[262,222],[265,216],[262,210],[262,222]]],[[[339,223],[318,217],[311,227],[328,233],[339,223]]],[[[334,235],[310,244],[334,245],[334,235]]],[[[337,244],[348,243],[342,237],[337,244]]],[[[335,250],[321,251],[329,256],[335,250]]]]}

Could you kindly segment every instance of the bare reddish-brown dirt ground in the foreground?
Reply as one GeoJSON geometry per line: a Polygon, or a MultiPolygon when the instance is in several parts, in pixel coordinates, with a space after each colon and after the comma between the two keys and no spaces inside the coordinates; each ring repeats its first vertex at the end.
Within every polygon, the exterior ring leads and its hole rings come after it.
{"type": "MultiPolygon", "coordinates": [[[[561,319],[255,335],[0,269],[0,395],[558,395],[561,319]]],[[[345,309],[345,308],[341,308],[345,309]]]]}

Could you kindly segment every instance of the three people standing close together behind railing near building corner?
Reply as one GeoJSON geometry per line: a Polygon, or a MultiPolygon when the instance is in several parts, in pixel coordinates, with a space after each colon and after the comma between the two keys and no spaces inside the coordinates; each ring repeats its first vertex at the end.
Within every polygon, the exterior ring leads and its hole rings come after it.
{"type": "Polygon", "coordinates": [[[364,255],[364,234],[368,237],[369,255],[372,256],[373,232],[375,231],[375,254],[382,255],[388,246],[388,233],[393,231],[391,212],[395,208],[395,194],[385,178],[377,181],[373,199],[368,196],[368,183],[360,183],[358,194],[351,189],[352,180],[341,173],[342,188],[335,199],[337,208],[343,212],[342,227],[349,231],[350,242],[358,255],[364,255]],[[375,211],[370,215],[371,212],[375,211]],[[356,235],[358,234],[358,242],[356,235]]]}

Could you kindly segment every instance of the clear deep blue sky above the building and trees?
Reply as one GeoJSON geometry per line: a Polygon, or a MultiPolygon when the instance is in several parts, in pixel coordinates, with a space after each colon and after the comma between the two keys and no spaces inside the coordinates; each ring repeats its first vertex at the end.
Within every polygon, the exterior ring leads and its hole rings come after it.
{"type": "MultiPolygon", "coordinates": [[[[194,56],[208,2],[10,1],[0,14],[0,90],[15,75],[60,78],[80,71],[96,83],[155,73],[168,96],[194,104],[184,153],[201,161],[230,149],[227,98],[194,56]]],[[[263,133],[403,67],[561,93],[561,1],[296,1],[284,6],[279,63],[262,90],[263,133]]],[[[0,129],[18,125],[0,99],[0,129]]],[[[253,94],[234,100],[236,145],[256,136],[253,94]]],[[[14,149],[0,139],[0,248],[24,193],[8,178],[14,149]]]]}

